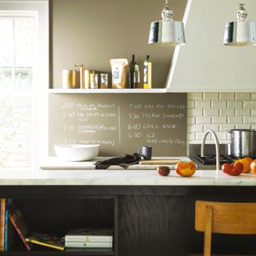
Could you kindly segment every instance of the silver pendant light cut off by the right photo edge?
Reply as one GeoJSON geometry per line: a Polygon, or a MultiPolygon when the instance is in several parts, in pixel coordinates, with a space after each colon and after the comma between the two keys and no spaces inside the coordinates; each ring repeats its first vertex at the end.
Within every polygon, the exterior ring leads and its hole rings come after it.
{"type": "Polygon", "coordinates": [[[245,4],[239,4],[236,22],[226,22],[223,44],[226,46],[255,46],[256,22],[247,20],[245,4]]]}

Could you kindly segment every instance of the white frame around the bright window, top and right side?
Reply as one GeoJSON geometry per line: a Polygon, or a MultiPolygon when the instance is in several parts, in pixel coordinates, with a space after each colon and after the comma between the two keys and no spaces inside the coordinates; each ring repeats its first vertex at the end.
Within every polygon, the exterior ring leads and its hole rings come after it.
{"type": "MultiPolygon", "coordinates": [[[[34,104],[33,127],[34,138],[32,150],[35,150],[32,159],[33,172],[38,170],[38,166],[48,158],[49,139],[49,1],[48,0],[0,0],[0,13],[8,15],[24,14],[32,15],[35,18],[38,48],[37,62],[35,62],[34,91],[32,101],[34,104]]],[[[5,16],[1,15],[1,16],[5,16]]],[[[22,169],[30,169],[20,167],[22,169]]],[[[20,169],[13,167],[12,169],[20,169]]]]}

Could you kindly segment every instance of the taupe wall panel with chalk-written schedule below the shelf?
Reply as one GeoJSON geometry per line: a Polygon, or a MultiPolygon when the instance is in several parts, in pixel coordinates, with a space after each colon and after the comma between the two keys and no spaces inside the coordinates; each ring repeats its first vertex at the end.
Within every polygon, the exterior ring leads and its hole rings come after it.
{"type": "Polygon", "coordinates": [[[50,155],[55,143],[100,144],[100,155],[186,155],[186,94],[50,94],[50,155]]]}

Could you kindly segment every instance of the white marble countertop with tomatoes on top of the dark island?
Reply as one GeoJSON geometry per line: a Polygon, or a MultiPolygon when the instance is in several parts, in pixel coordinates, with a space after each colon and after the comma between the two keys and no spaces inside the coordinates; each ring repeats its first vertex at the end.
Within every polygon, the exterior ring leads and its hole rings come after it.
{"type": "Polygon", "coordinates": [[[162,177],[157,170],[0,170],[0,186],[256,186],[256,174],[237,177],[221,170],[197,170],[162,177]]]}

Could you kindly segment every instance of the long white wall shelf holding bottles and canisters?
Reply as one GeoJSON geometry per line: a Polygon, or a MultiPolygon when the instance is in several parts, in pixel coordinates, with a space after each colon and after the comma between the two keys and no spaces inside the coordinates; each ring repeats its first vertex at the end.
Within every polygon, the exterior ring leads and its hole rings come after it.
{"type": "Polygon", "coordinates": [[[163,94],[166,88],[154,89],[49,89],[50,94],[163,94]]]}

